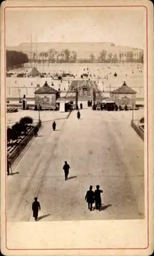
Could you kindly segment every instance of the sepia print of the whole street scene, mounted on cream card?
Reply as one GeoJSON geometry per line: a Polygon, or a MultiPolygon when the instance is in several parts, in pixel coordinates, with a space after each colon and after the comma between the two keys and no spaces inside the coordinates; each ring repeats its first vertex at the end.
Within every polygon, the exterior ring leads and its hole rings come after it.
{"type": "Polygon", "coordinates": [[[146,9],[74,7],[5,7],[9,225],[147,218],[146,9]]]}

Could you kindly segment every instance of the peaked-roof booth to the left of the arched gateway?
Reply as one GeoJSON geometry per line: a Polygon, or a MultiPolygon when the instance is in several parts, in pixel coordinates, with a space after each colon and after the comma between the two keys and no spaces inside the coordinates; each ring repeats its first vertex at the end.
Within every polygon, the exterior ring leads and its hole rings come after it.
{"type": "Polygon", "coordinates": [[[35,92],[35,108],[41,110],[56,110],[57,91],[50,88],[47,82],[35,92]]]}

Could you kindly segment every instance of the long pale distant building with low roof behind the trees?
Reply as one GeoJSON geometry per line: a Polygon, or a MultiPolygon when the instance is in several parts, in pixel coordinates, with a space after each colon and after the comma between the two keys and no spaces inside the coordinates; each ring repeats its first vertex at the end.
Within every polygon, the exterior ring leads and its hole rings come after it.
{"type": "Polygon", "coordinates": [[[70,52],[69,59],[72,62],[81,59],[97,61],[99,58],[104,61],[118,59],[118,62],[125,62],[139,60],[143,56],[142,49],[115,46],[112,42],[32,42],[32,44],[22,43],[17,47],[7,47],[7,50],[26,53],[29,59],[52,62],[64,61],[66,49],[70,52]]]}

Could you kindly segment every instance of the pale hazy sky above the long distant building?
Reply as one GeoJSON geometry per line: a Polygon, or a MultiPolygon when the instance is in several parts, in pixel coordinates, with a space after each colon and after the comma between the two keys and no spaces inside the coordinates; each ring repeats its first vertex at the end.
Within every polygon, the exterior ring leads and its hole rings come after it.
{"type": "Polygon", "coordinates": [[[6,11],[6,45],[21,42],[113,42],[144,47],[144,10],[6,11]]]}

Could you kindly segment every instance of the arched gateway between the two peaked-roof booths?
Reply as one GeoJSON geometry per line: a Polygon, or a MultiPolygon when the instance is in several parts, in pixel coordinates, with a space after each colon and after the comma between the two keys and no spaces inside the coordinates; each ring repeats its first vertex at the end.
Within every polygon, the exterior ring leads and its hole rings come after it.
{"type": "Polygon", "coordinates": [[[92,98],[93,103],[95,104],[96,93],[99,98],[102,98],[95,80],[73,80],[65,97],[70,99],[75,96],[75,108],[78,109],[79,98],[83,101],[92,98]]]}

